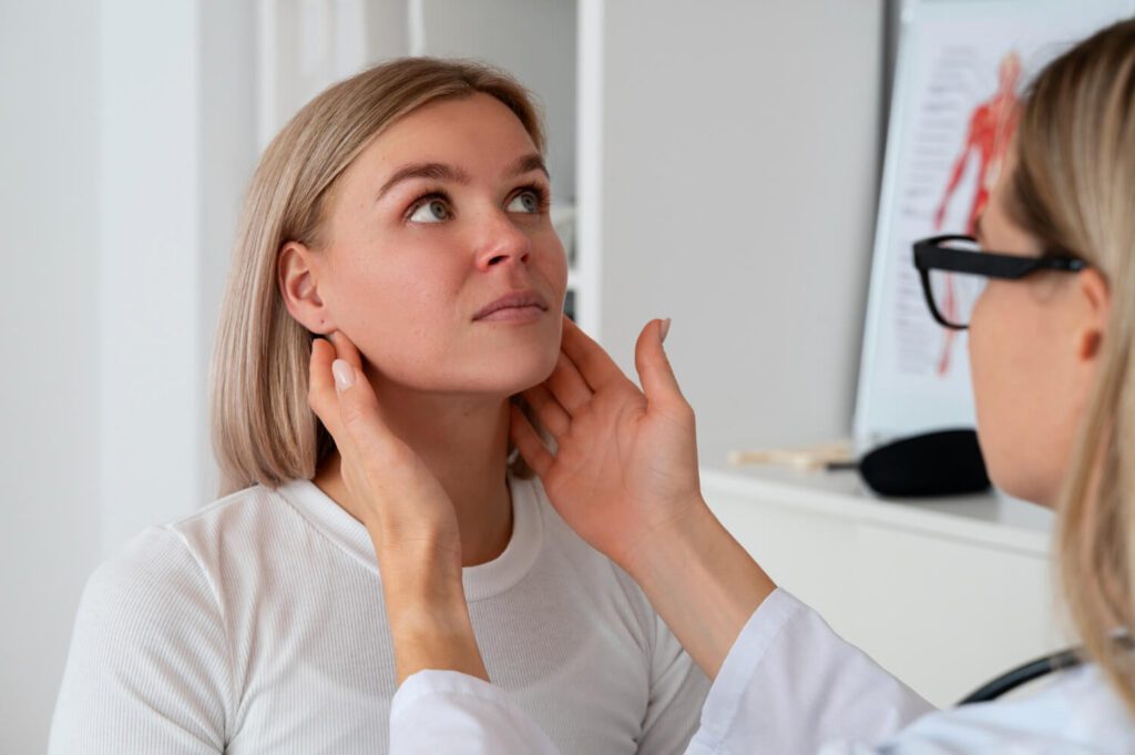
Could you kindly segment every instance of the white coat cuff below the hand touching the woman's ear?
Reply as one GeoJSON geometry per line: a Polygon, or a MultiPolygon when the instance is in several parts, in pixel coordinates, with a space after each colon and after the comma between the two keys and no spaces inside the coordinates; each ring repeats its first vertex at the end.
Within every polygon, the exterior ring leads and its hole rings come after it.
{"type": "Polygon", "coordinates": [[[498,687],[456,671],[419,671],[390,703],[390,755],[557,755],[498,687]]]}

